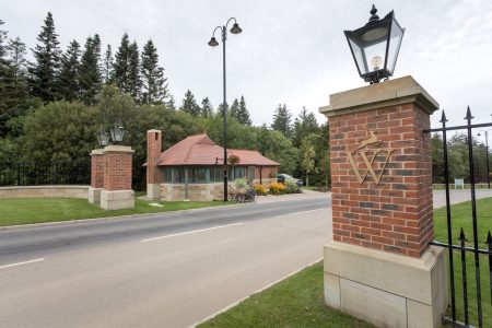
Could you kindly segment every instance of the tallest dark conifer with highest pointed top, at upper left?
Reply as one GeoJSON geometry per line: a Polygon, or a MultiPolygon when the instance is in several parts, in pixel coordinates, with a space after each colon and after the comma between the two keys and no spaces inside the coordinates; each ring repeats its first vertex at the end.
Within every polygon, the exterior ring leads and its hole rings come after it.
{"type": "Polygon", "coordinates": [[[51,102],[59,97],[58,72],[61,50],[50,12],[46,16],[37,40],[38,44],[32,49],[35,62],[28,69],[31,94],[44,102],[51,102]]]}

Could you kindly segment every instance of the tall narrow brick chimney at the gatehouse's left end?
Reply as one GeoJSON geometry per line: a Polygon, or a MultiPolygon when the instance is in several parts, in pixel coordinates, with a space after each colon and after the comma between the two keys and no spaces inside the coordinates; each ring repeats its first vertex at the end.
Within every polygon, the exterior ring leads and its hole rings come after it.
{"type": "Polygon", "coordinates": [[[162,169],[157,167],[162,152],[162,132],[147,131],[147,197],[161,198],[162,169]]]}

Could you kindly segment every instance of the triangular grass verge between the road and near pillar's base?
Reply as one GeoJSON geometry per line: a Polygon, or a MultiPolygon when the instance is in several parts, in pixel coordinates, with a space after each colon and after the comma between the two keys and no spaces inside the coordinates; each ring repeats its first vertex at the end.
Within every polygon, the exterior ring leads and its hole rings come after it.
{"type": "Polygon", "coordinates": [[[198,327],[372,327],[327,307],[323,291],[319,262],[198,327]]]}

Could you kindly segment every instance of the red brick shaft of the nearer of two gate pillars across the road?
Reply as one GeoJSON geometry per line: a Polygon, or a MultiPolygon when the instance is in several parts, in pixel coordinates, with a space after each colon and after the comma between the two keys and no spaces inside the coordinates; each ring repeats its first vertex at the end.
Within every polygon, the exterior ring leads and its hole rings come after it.
{"type": "Polygon", "coordinates": [[[104,189],[131,190],[131,153],[106,152],[104,154],[104,189]]]}

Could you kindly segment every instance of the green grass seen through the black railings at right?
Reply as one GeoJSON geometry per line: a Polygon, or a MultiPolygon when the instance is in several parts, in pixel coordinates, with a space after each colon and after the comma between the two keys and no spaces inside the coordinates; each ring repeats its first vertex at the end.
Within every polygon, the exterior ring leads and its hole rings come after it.
{"type": "MultiPolygon", "coordinates": [[[[492,231],[492,198],[481,199],[477,201],[477,226],[478,241],[480,248],[488,248],[485,244],[488,231],[492,231]]],[[[452,232],[453,244],[459,245],[459,230],[462,227],[467,238],[467,246],[473,247],[473,227],[471,219],[471,202],[464,202],[452,207],[452,232]]],[[[447,224],[446,224],[446,209],[442,208],[434,211],[434,234],[435,239],[447,243],[447,224]]],[[[448,254],[446,254],[446,260],[448,254]]],[[[456,297],[456,318],[465,321],[464,315],[464,292],[462,292],[462,276],[461,276],[461,258],[460,251],[455,250],[453,254],[454,260],[454,276],[455,276],[455,297],[456,297]]],[[[468,289],[468,312],[470,324],[478,326],[477,318],[477,279],[475,269],[475,256],[467,251],[466,255],[467,269],[467,289],[468,289]]],[[[489,276],[489,259],[484,255],[479,256],[480,260],[480,284],[481,284],[481,300],[482,300],[482,315],[483,327],[492,327],[492,298],[490,290],[489,276]]],[[[450,290],[448,271],[448,288],[450,290]]],[[[450,291],[449,291],[450,295],[450,291]]],[[[450,296],[449,296],[450,304],[450,296]]],[[[450,307],[448,308],[448,316],[450,317],[450,307]]]]}

